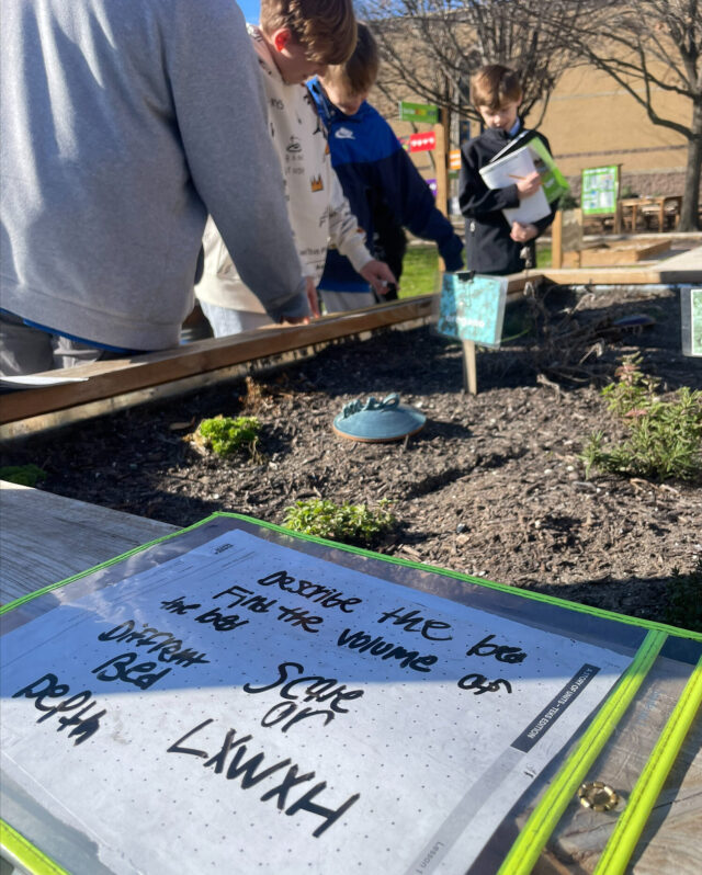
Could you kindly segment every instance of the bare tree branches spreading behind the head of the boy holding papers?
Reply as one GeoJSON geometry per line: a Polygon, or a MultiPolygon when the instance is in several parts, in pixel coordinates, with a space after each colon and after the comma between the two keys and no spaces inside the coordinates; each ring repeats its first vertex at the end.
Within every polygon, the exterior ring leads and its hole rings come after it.
{"type": "MultiPolygon", "coordinates": [[[[361,0],[356,5],[378,41],[385,88],[409,89],[464,116],[479,117],[469,105],[471,75],[484,64],[505,64],[520,75],[522,116],[539,104],[541,121],[573,60],[558,29],[539,24],[544,0],[361,0]]],[[[577,26],[588,3],[547,5],[565,33],[577,26]]]]}

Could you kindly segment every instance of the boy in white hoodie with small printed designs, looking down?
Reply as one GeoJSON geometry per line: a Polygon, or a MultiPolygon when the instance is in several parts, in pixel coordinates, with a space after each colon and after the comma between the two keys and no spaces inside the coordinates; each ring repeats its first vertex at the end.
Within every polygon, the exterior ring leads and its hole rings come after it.
{"type": "MultiPolygon", "coordinates": [[[[313,314],[318,315],[316,285],[329,240],[383,294],[395,277],[366,249],[365,234],[343,196],[326,133],[304,86],[310,76],[322,73],[328,64],[342,63],[353,52],[356,31],[351,0],[262,0],[261,24],[249,25],[249,35],[263,78],[270,133],[281,161],[313,314]]],[[[212,218],[203,246],[205,265],[195,294],[215,337],[269,325],[271,319],[237,274],[212,218]]],[[[265,258],[275,259],[275,252],[265,258]]]]}

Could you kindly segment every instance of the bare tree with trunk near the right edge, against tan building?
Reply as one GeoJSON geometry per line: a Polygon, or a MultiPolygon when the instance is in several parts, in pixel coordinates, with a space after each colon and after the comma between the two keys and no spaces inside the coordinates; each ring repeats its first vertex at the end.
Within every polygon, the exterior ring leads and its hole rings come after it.
{"type": "MultiPolygon", "coordinates": [[[[559,22],[542,4],[544,30],[559,22]]],[[[702,171],[702,3],[699,0],[593,0],[579,27],[565,36],[571,50],[614,79],[654,125],[688,141],[679,229],[699,227],[702,171]],[[686,118],[671,113],[666,96],[689,101],[686,118]]]]}

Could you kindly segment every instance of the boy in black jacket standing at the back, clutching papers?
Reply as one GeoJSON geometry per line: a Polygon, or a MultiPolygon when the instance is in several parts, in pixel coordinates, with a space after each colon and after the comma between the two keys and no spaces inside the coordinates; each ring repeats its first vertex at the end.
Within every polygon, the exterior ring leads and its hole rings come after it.
{"type": "MultiPolygon", "coordinates": [[[[458,204],[466,217],[467,268],[485,274],[519,273],[525,266],[534,266],[534,240],[553,221],[557,204],[552,205],[551,215],[539,221],[528,225],[514,221],[510,226],[502,209],[519,206],[522,197],[534,194],[541,184],[539,173],[531,173],[506,189],[492,190],[479,173],[523,129],[518,116],[522,88],[517,73],[499,64],[480,68],[471,79],[471,100],[486,129],[461,149],[458,204]]],[[[551,151],[546,138],[536,136],[551,151]]]]}

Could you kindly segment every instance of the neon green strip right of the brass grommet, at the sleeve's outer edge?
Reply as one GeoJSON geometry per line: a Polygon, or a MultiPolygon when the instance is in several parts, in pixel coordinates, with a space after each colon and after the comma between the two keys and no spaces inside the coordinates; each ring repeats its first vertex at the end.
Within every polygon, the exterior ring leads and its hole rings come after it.
{"type": "Polygon", "coordinates": [[[634,786],[626,808],[604,845],[593,875],[620,875],[626,868],[701,704],[702,658],[668,718],[666,728],[660,734],[660,738],[634,786]]]}

